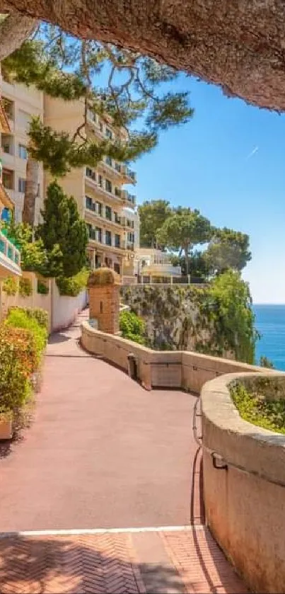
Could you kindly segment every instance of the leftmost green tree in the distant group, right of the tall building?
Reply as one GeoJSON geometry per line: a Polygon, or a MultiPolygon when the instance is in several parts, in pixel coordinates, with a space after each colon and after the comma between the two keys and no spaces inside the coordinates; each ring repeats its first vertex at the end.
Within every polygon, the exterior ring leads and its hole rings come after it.
{"type": "Polygon", "coordinates": [[[151,248],[156,246],[156,236],[165,220],[170,216],[171,209],[167,200],[151,200],[143,202],[139,211],[139,238],[141,246],[151,248]]]}

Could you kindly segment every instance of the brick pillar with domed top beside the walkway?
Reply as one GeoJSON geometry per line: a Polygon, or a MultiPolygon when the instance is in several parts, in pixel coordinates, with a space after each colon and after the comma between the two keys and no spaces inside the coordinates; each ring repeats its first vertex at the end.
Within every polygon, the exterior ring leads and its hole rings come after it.
{"type": "Polygon", "coordinates": [[[98,330],[119,333],[120,277],[110,268],[98,268],[88,279],[90,318],[97,319],[98,330]]]}

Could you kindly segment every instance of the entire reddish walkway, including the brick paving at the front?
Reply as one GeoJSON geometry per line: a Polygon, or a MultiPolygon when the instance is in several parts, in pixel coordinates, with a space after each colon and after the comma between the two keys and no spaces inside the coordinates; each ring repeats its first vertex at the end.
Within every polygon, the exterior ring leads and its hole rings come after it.
{"type": "Polygon", "coordinates": [[[85,315],[51,338],[35,421],[2,450],[1,593],[245,592],[201,525],[195,397],[84,353],[85,315]]]}

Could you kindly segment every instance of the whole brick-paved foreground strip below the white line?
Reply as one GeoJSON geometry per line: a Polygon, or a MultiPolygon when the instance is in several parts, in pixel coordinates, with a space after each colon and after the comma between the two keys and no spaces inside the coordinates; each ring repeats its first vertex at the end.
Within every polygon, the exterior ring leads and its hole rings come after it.
{"type": "Polygon", "coordinates": [[[1,594],[244,594],[205,527],[175,532],[7,536],[1,594]]]}

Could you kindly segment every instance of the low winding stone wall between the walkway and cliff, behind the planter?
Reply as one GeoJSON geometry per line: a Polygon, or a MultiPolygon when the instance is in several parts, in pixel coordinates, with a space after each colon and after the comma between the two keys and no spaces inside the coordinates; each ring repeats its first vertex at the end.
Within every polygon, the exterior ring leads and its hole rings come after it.
{"type": "Polygon", "coordinates": [[[138,375],[145,387],[183,388],[199,394],[203,384],[219,375],[233,372],[264,372],[264,367],[246,365],[233,360],[200,355],[190,351],[151,350],[114,334],[81,326],[81,343],[90,353],[102,355],[122,369],[128,369],[128,355],[138,361],[138,375]]]}

